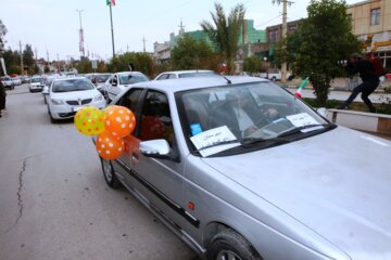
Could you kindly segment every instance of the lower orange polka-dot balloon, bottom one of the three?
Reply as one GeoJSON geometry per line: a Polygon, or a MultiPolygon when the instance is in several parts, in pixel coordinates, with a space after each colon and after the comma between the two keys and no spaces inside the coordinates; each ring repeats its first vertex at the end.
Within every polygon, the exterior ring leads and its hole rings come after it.
{"type": "Polygon", "coordinates": [[[96,148],[100,157],[115,159],[124,152],[124,141],[104,131],[98,135],[96,148]]]}

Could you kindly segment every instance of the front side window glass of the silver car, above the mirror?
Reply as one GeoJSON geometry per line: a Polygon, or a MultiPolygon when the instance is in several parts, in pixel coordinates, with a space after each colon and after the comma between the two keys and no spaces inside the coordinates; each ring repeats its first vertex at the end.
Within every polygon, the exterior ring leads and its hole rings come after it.
{"type": "Polygon", "coordinates": [[[172,146],[174,128],[167,96],[149,91],[142,105],[139,139],[142,141],[165,139],[172,146]]]}

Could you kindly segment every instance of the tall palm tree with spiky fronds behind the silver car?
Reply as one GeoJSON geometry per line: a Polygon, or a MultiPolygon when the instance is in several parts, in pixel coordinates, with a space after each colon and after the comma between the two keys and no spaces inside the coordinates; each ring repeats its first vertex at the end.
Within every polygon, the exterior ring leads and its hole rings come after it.
{"type": "Polygon", "coordinates": [[[234,61],[238,51],[238,39],[245,10],[243,4],[237,4],[228,17],[226,17],[220,3],[215,3],[215,14],[211,12],[214,25],[207,21],[202,21],[201,27],[210,39],[217,44],[218,52],[224,54],[227,61],[227,74],[231,75],[235,73],[234,61]]]}

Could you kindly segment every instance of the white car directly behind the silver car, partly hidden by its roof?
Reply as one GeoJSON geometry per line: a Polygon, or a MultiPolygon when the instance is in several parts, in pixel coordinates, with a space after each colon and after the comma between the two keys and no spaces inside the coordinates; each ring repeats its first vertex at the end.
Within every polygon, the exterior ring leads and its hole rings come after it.
{"type": "Polygon", "coordinates": [[[104,84],[104,95],[108,101],[112,101],[130,84],[149,80],[150,78],[147,75],[139,72],[113,74],[104,84]]]}

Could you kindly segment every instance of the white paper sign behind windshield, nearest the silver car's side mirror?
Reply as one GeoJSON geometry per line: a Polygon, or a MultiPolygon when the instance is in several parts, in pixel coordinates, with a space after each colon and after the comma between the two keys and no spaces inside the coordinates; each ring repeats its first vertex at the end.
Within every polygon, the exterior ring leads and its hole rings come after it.
{"type": "Polygon", "coordinates": [[[218,143],[222,142],[237,140],[234,133],[226,126],[201,132],[190,138],[190,140],[194,144],[195,148],[200,150],[200,154],[203,157],[217,154],[222,151],[229,150],[231,147],[240,145],[239,143],[218,145],[218,143]],[[205,148],[211,145],[216,145],[216,146],[205,148]]]}

